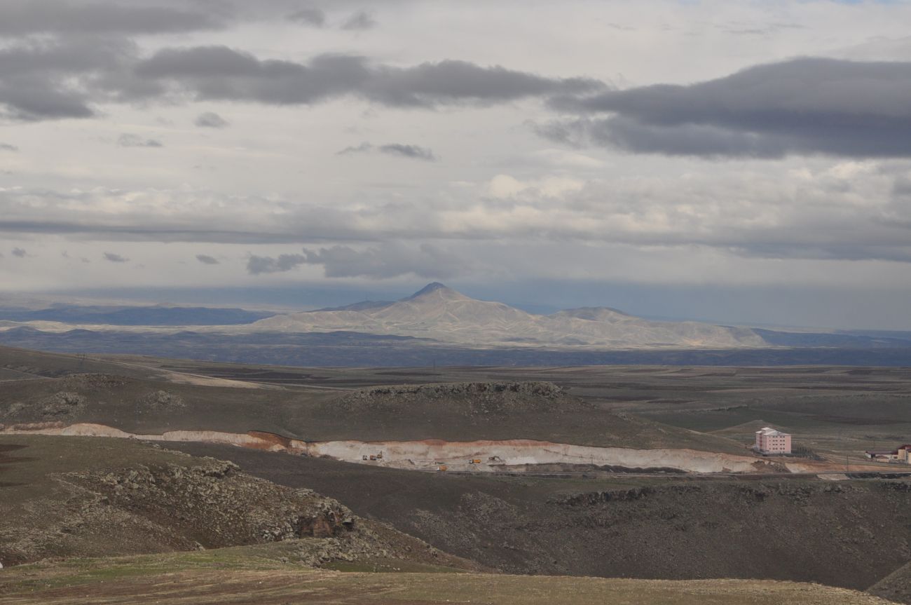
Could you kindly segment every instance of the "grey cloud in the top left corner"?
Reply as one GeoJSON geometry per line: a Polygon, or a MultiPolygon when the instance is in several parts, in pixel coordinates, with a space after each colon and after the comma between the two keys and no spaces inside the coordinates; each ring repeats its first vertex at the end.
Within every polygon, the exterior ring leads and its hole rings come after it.
{"type": "Polygon", "coordinates": [[[0,3],[0,36],[164,34],[214,29],[222,25],[222,15],[212,12],[185,7],[141,6],[135,2],[4,0],[0,3]]]}

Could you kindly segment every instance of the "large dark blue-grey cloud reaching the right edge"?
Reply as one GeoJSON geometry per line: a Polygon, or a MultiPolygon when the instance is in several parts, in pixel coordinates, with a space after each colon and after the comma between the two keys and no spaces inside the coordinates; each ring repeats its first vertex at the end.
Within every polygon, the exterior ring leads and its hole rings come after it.
{"type": "Polygon", "coordinates": [[[536,129],[558,141],[635,153],[907,157],[908,98],[911,63],[800,58],[690,86],[558,97],[555,108],[585,118],[536,129]]]}

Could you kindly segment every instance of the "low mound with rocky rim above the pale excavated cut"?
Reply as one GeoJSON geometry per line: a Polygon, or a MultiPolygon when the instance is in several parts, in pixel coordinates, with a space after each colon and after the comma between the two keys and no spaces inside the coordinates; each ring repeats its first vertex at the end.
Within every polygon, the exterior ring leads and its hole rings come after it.
{"type": "Polygon", "coordinates": [[[558,385],[533,381],[374,386],[355,390],[330,405],[348,414],[410,414],[435,408],[464,416],[575,412],[590,407],[558,385]]]}

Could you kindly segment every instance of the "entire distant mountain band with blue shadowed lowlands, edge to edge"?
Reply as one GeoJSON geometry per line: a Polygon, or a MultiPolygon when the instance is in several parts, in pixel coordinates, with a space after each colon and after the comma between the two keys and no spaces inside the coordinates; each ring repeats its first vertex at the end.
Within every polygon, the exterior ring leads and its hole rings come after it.
{"type": "Polygon", "coordinates": [[[908,332],[659,322],[607,307],[527,313],[441,283],[399,301],[290,314],[164,305],[0,308],[0,344],[314,366],[911,365],[908,332]]]}

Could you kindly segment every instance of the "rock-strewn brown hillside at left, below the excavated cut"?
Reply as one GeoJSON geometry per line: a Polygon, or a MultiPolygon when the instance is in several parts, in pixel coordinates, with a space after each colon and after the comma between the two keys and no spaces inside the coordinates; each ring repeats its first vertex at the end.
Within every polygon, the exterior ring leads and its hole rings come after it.
{"type": "MultiPolygon", "coordinates": [[[[298,559],[404,558],[448,561],[418,539],[356,517],[311,489],[275,485],[231,462],[193,457],[137,443],[78,437],[29,437],[18,481],[0,501],[0,563],[48,557],[110,556],[224,548],[286,540],[298,559]],[[81,464],[57,464],[78,448],[81,464]],[[118,454],[128,466],[118,464],[118,454]],[[72,470],[67,466],[87,466],[72,470]],[[65,467],[65,472],[46,469],[65,467]],[[30,481],[34,472],[38,477],[30,481]]],[[[119,440],[118,440],[119,441],[119,440]]],[[[2,444],[0,444],[2,445],[2,444]]]]}

